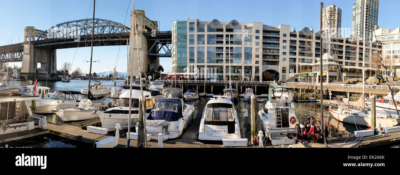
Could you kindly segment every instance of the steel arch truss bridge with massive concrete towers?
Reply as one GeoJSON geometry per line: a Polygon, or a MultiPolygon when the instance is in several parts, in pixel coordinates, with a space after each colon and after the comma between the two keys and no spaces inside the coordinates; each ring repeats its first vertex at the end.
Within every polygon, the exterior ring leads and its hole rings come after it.
{"type": "MultiPolygon", "coordinates": [[[[144,72],[157,70],[160,57],[171,57],[172,32],[158,31],[157,21],[149,20],[143,10],[135,10],[135,15],[138,33],[131,32],[131,28],[124,24],[99,18],[95,18],[94,22],[93,19],[63,22],[44,31],[28,26],[24,29],[23,43],[0,46],[0,69],[5,62],[22,61],[20,77],[60,81],[57,76],[57,49],[90,47],[92,42],[93,46],[128,45],[132,44],[130,40],[135,41],[138,37],[140,57],[143,59],[136,65],[141,65],[144,72]],[[148,66],[150,70],[147,70],[148,66]]],[[[132,19],[131,12],[133,23],[132,19]]],[[[136,43],[130,47],[136,48],[136,43]]]]}

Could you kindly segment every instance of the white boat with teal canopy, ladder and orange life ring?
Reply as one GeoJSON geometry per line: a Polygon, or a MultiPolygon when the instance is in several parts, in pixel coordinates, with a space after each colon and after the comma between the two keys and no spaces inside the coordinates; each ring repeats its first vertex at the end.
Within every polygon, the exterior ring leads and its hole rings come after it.
{"type": "MultiPolygon", "coordinates": [[[[276,86],[268,89],[268,101],[258,111],[265,136],[272,145],[295,144],[296,140],[280,133],[295,132],[294,126],[299,121],[294,112],[292,89],[287,86],[276,86]]],[[[304,128],[303,125],[300,126],[304,128]]]]}

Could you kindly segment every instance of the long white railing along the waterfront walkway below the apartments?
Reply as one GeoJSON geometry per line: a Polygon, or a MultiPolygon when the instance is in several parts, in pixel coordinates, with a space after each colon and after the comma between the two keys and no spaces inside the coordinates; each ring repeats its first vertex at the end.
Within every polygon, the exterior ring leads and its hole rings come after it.
{"type": "MultiPolygon", "coordinates": [[[[165,83],[226,83],[229,81],[214,81],[214,80],[163,80],[165,83]]],[[[232,84],[272,84],[272,81],[231,81],[232,84]]],[[[320,83],[302,83],[302,82],[286,82],[285,85],[300,85],[300,86],[321,86],[320,83]]],[[[336,84],[336,83],[322,83],[324,87],[336,87],[336,88],[362,88],[362,85],[348,85],[348,84],[336,84]]],[[[400,86],[391,86],[392,88],[400,89],[400,86]]],[[[374,90],[389,90],[388,86],[382,85],[364,85],[365,89],[374,89],[374,90]]]]}

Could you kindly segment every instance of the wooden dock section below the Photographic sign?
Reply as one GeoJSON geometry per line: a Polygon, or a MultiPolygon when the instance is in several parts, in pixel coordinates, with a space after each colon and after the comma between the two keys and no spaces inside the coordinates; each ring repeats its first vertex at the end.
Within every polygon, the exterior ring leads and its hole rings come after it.
{"type": "Polygon", "coordinates": [[[44,130],[42,128],[35,128],[33,130],[26,130],[26,131],[2,134],[2,135],[0,135],[0,143],[9,142],[12,140],[19,140],[19,139],[23,139],[23,138],[32,137],[32,136],[38,136],[38,135],[46,134],[49,132],[50,132],[50,130],[48,130],[48,129],[44,130]]]}

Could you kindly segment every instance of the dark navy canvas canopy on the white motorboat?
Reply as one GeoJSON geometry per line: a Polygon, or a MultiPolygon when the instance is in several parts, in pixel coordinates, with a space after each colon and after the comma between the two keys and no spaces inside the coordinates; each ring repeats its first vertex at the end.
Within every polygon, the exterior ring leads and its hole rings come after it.
{"type": "Polygon", "coordinates": [[[180,98],[160,98],[154,104],[147,120],[174,122],[182,117],[182,100],[180,98]]]}

